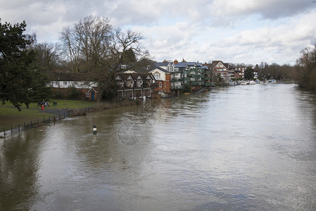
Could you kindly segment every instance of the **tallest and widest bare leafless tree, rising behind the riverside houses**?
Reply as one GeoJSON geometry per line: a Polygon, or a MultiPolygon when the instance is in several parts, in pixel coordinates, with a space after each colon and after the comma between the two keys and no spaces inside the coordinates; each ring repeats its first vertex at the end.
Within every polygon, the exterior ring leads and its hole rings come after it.
{"type": "Polygon", "coordinates": [[[132,30],[113,29],[108,18],[88,16],[61,33],[63,51],[68,56],[72,72],[91,72],[91,79],[99,84],[98,101],[103,94],[116,92],[115,70],[122,63],[123,54],[131,51],[137,58],[149,53],[141,46],[144,37],[132,30]],[[110,91],[109,91],[110,90],[110,91]]]}

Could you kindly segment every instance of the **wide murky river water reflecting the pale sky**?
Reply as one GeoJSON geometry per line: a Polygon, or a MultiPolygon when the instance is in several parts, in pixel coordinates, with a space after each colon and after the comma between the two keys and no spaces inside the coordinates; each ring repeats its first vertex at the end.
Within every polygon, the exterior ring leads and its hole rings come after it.
{"type": "Polygon", "coordinates": [[[2,139],[0,210],[315,210],[315,140],[293,84],[104,110],[2,139]]]}

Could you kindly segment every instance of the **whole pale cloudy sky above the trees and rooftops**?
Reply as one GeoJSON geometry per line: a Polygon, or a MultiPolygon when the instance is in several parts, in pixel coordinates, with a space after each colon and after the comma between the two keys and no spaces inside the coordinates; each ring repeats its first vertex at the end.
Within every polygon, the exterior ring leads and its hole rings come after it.
{"type": "Polygon", "coordinates": [[[153,60],[294,65],[316,44],[314,0],[0,0],[1,23],[27,23],[37,41],[89,15],[140,32],[153,60]]]}

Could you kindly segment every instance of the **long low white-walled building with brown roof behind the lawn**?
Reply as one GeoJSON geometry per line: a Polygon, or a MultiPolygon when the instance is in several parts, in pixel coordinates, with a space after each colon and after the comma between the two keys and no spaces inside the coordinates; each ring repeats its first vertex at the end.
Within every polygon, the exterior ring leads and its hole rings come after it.
{"type": "Polygon", "coordinates": [[[49,83],[47,87],[51,87],[53,94],[61,94],[68,96],[69,89],[74,87],[80,91],[81,99],[94,101],[99,94],[99,86],[96,82],[89,80],[90,75],[87,74],[74,74],[64,72],[49,72],[49,83]]]}

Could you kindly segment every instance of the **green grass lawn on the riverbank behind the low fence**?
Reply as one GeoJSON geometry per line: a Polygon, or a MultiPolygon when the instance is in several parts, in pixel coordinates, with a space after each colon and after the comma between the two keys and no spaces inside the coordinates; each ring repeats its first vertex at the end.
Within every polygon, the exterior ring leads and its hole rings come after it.
{"type": "MultiPolygon", "coordinates": [[[[71,100],[56,100],[49,101],[49,107],[46,109],[76,109],[96,106],[96,102],[91,101],[71,101],[71,100]],[[57,106],[53,106],[53,102],[57,102],[57,106]]],[[[18,111],[10,102],[0,106],[0,132],[3,129],[11,129],[11,126],[18,127],[18,124],[30,123],[30,121],[41,120],[43,118],[42,109],[37,107],[37,103],[31,103],[29,108],[23,105],[21,111],[18,111]]],[[[49,113],[44,113],[44,117],[52,116],[49,113]]]]}

